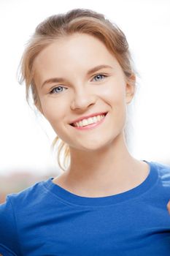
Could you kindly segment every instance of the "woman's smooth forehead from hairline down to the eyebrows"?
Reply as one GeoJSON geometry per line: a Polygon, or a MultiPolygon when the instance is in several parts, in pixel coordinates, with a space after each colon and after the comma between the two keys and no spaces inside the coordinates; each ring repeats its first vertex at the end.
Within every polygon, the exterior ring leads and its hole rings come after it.
{"type": "Polygon", "coordinates": [[[82,75],[100,64],[115,65],[117,60],[98,38],[89,34],[74,33],[55,39],[34,60],[36,77],[44,80],[54,76],[82,75]]]}

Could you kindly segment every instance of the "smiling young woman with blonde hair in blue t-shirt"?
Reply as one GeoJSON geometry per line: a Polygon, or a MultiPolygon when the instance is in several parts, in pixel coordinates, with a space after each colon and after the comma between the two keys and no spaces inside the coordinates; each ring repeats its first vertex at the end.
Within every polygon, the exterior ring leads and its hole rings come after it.
{"type": "Polygon", "coordinates": [[[1,254],[170,255],[170,167],[135,159],[125,139],[136,77],[123,32],[92,10],[53,15],[36,27],[21,72],[61,141],[58,161],[64,149],[70,162],[7,195],[1,254]]]}

